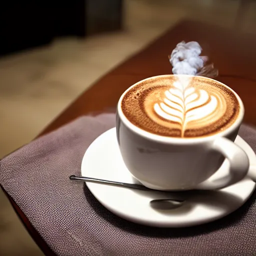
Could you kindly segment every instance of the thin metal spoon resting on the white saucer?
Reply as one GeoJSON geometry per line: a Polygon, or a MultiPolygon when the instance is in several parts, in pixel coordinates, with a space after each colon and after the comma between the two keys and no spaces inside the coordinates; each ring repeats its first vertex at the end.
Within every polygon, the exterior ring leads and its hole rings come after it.
{"type": "MultiPolygon", "coordinates": [[[[100,178],[91,178],[91,177],[71,175],[71,176],[69,176],[69,179],[76,180],[76,181],[83,181],[83,182],[87,181],[87,182],[103,183],[103,184],[108,184],[108,185],[124,186],[124,187],[139,189],[139,190],[160,192],[160,190],[151,189],[151,188],[148,188],[148,187],[146,187],[144,185],[140,185],[140,184],[131,184],[131,183],[118,182],[118,181],[112,181],[112,180],[106,180],[106,179],[100,179],[100,178]]],[[[161,191],[161,192],[171,193],[171,192],[168,192],[168,191],[161,191]]],[[[161,201],[169,201],[169,202],[172,201],[174,203],[175,207],[177,207],[177,204],[181,205],[185,200],[177,199],[177,198],[153,199],[153,200],[150,201],[150,203],[155,203],[155,202],[159,203],[161,201]]]]}

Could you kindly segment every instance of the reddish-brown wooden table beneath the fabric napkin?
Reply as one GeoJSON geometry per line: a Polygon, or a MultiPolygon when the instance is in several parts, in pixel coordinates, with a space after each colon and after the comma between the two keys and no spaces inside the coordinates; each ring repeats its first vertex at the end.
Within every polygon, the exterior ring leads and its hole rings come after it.
{"type": "MultiPolygon", "coordinates": [[[[244,121],[256,125],[256,38],[214,25],[184,20],[98,79],[39,135],[80,115],[115,111],[119,96],[130,85],[149,76],[171,73],[167,55],[181,40],[195,40],[201,44],[203,55],[209,55],[219,70],[216,79],[233,88],[242,98],[245,106],[244,121]]],[[[14,201],[8,198],[43,252],[54,255],[14,201]]]]}

